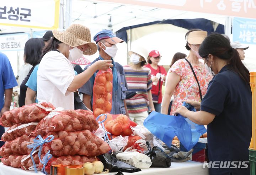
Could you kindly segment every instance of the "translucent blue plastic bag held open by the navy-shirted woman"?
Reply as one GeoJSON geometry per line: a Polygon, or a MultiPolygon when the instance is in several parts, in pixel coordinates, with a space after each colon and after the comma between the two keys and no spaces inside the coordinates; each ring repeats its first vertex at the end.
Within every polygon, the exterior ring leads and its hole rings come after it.
{"type": "MultiPolygon", "coordinates": [[[[186,102],[182,104],[190,111],[196,111],[186,102]]],[[[172,139],[177,136],[182,145],[190,150],[198,142],[200,136],[206,133],[203,125],[198,125],[182,115],[165,115],[153,111],[144,121],[144,126],[161,141],[171,146],[172,139]]]]}

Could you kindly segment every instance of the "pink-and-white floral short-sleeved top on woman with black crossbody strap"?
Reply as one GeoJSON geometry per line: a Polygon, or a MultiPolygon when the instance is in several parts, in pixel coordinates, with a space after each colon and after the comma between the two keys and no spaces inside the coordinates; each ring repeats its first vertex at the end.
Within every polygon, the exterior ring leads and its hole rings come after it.
{"type": "MultiPolygon", "coordinates": [[[[203,63],[201,63],[200,66],[193,66],[193,69],[199,81],[202,96],[204,97],[207,91],[208,83],[212,79],[212,75],[208,75],[208,71],[204,67],[203,63]]],[[[181,77],[180,82],[177,84],[174,90],[174,100],[172,102],[170,113],[170,115],[174,115],[177,107],[181,106],[183,101],[194,100],[201,102],[201,99],[197,81],[190,68],[190,65],[185,59],[176,61],[168,73],[170,72],[175,72],[181,77]]]]}

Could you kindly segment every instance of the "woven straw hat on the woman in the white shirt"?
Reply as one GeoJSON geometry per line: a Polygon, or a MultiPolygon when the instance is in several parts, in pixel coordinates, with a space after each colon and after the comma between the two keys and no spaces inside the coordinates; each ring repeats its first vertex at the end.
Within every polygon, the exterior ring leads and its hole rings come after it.
{"type": "Polygon", "coordinates": [[[53,30],[53,36],[70,47],[77,47],[84,44],[89,45],[84,50],[84,55],[93,55],[97,51],[97,45],[91,42],[90,29],[81,24],[72,24],[64,32],[53,30]]]}

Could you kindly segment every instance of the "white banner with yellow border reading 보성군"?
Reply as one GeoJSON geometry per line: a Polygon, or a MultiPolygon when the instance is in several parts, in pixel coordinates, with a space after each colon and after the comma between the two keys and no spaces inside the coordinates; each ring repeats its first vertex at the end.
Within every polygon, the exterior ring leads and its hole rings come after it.
{"type": "Polygon", "coordinates": [[[60,0],[11,0],[0,3],[0,25],[57,29],[60,0]]]}

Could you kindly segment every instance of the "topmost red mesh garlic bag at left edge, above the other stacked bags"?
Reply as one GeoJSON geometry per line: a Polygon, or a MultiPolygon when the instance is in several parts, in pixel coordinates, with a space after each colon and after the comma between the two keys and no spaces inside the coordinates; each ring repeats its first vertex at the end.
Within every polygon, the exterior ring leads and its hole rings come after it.
{"type": "MultiPolygon", "coordinates": [[[[0,118],[0,125],[4,127],[11,127],[15,124],[39,122],[50,111],[46,111],[38,106],[36,103],[22,106],[21,108],[15,108],[10,111],[6,111],[0,118]]],[[[55,109],[51,103],[41,103],[45,108],[55,109]]]]}

